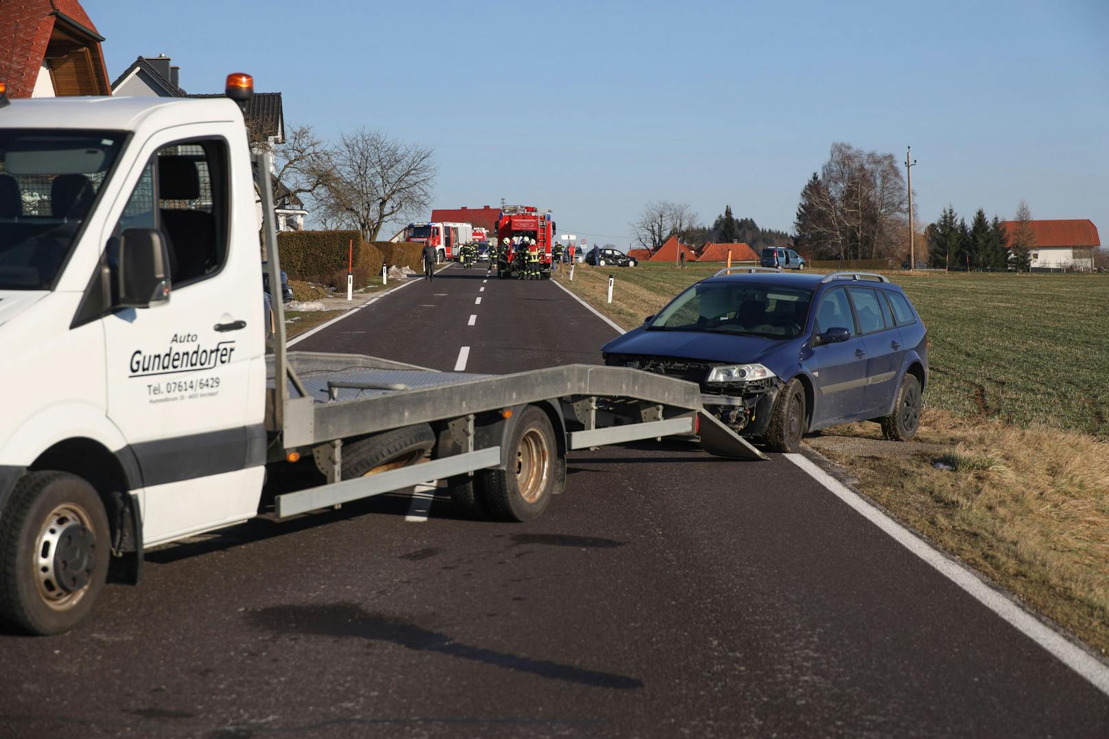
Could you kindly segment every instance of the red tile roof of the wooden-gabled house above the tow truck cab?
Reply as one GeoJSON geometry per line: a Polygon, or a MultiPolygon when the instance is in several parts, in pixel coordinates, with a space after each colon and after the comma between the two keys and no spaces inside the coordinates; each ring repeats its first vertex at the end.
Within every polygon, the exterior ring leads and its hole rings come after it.
{"type": "MultiPolygon", "coordinates": [[[[11,3],[6,3],[11,4],[11,3]]],[[[108,89],[108,70],[100,49],[100,32],[92,24],[88,13],[78,0],[24,0],[14,8],[4,8],[2,31],[0,31],[0,80],[8,84],[9,98],[30,98],[39,68],[47,54],[54,23],[62,20],[61,28],[80,31],[89,36],[89,47],[93,52],[93,67],[99,72],[104,90],[108,89]],[[65,22],[65,21],[71,21],[65,22]],[[9,64],[9,60],[11,63],[9,64]]],[[[99,80],[98,80],[99,82],[99,80]]]]}

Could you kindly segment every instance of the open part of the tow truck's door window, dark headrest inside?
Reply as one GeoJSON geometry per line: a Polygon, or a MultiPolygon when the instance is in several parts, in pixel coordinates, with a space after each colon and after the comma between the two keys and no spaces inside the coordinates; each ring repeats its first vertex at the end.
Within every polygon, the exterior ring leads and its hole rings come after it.
{"type": "Polygon", "coordinates": [[[227,145],[221,140],[163,148],[157,166],[159,226],[174,288],[210,277],[227,260],[227,145]]]}

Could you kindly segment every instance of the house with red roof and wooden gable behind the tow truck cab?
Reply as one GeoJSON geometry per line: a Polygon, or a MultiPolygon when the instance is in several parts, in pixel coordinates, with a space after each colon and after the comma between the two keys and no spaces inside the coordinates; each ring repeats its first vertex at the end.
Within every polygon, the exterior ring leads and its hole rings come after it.
{"type": "Polygon", "coordinates": [[[109,95],[103,40],[78,0],[6,0],[0,81],[9,98],[109,95]]]}

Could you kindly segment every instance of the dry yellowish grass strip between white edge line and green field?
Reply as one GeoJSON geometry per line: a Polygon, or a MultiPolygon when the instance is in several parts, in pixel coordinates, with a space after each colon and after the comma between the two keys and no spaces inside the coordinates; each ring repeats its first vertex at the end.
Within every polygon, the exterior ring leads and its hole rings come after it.
{"type": "Polygon", "coordinates": [[[1109,443],[935,409],[917,438],[947,451],[858,455],[821,444],[821,452],[897,518],[1109,654],[1109,443]]]}

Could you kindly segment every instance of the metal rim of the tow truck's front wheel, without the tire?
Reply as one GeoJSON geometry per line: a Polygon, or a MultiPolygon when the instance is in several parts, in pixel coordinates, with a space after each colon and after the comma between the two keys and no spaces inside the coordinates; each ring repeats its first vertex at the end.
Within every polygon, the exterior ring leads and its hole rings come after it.
{"type": "Polygon", "coordinates": [[[68,610],[84,596],[95,569],[96,532],[89,513],[72,503],[55,507],[35,539],[39,597],[54,610],[68,610]]]}

